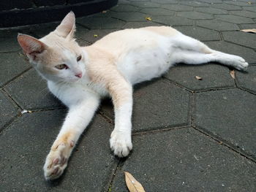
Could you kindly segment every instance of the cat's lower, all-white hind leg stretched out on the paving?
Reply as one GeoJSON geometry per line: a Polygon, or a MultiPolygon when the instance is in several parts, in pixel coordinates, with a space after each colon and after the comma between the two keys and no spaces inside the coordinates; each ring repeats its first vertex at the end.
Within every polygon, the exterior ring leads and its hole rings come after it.
{"type": "Polygon", "coordinates": [[[189,50],[177,50],[172,54],[172,58],[174,62],[184,64],[206,64],[214,61],[226,66],[232,66],[238,70],[246,70],[248,66],[244,58],[218,51],[215,53],[197,53],[189,50]]]}

